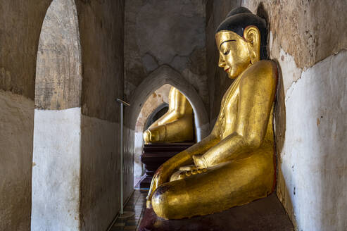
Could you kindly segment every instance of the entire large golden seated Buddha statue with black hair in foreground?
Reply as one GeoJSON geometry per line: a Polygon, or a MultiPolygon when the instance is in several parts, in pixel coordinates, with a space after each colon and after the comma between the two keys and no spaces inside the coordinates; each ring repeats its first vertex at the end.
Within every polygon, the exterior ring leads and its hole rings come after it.
{"type": "Polygon", "coordinates": [[[147,206],[161,218],[223,211],[265,197],[275,186],[277,65],[266,60],[265,20],[237,8],[217,28],[215,40],[218,65],[234,82],[210,135],[154,175],[147,206]]]}

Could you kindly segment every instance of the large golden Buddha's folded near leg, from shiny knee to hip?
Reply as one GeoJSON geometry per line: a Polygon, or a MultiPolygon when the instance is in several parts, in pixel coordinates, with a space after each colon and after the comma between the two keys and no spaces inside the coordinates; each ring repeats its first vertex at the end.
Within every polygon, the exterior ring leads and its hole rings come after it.
{"type": "Polygon", "coordinates": [[[260,152],[160,185],[152,206],[163,218],[206,215],[270,194],[274,180],[273,152],[260,152]]]}

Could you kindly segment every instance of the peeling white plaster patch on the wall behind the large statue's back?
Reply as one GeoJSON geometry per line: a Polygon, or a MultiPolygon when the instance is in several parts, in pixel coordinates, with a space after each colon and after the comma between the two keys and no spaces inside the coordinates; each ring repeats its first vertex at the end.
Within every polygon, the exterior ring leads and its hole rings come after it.
{"type": "Polygon", "coordinates": [[[297,230],[347,228],[346,60],[347,51],[325,58],[286,92],[278,193],[297,230]]]}

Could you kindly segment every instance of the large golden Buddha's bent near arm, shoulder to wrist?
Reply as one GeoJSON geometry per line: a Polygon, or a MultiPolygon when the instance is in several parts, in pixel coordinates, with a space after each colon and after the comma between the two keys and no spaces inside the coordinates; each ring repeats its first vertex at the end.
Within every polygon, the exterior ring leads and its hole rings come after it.
{"type": "Polygon", "coordinates": [[[194,156],[198,168],[231,161],[262,144],[275,97],[276,79],[272,73],[261,74],[241,80],[236,130],[203,156],[194,156]]]}

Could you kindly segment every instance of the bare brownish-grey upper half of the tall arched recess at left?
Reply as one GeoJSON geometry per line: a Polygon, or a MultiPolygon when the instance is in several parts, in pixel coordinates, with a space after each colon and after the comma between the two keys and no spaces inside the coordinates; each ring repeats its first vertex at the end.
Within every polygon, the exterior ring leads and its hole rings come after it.
{"type": "Polygon", "coordinates": [[[73,1],[52,1],[42,25],[35,107],[61,110],[80,106],[82,85],[80,33],[73,1]]]}

